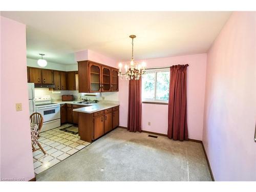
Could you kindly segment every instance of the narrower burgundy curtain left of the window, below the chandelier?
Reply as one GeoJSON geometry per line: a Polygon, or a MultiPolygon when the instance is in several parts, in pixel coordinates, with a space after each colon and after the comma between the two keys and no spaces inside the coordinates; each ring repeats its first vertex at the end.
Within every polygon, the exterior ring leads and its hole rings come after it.
{"type": "Polygon", "coordinates": [[[130,132],[141,132],[141,78],[129,80],[128,126],[130,132]]]}

